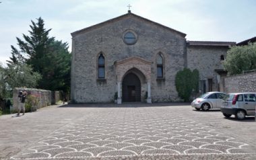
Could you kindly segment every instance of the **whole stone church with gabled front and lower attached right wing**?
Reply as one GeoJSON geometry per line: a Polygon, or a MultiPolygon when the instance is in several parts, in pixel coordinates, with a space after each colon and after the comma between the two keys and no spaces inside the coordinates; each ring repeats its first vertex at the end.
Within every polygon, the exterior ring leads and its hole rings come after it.
{"type": "Polygon", "coordinates": [[[72,36],[75,103],[177,102],[175,75],[199,70],[201,92],[222,90],[221,61],[234,42],[187,41],[186,34],[129,11],[72,36]]]}

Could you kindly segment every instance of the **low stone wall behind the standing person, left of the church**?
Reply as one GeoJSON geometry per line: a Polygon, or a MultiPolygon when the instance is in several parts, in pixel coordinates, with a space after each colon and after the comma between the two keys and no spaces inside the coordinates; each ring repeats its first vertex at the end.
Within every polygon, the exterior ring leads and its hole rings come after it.
{"type": "Polygon", "coordinates": [[[15,88],[13,90],[13,110],[18,109],[18,104],[20,102],[20,97],[18,97],[19,91],[26,91],[28,96],[32,95],[38,99],[36,109],[55,104],[55,102],[59,101],[61,95],[59,91],[49,91],[34,88],[15,88]]]}

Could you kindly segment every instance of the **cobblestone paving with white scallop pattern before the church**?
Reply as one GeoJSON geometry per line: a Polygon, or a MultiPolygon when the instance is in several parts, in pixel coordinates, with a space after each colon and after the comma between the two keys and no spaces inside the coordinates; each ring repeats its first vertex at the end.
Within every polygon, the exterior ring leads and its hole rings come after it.
{"type": "Polygon", "coordinates": [[[253,159],[254,148],[237,138],[241,135],[230,136],[195,116],[207,112],[189,106],[134,106],[139,104],[78,108],[83,116],[11,159],[253,159]]]}

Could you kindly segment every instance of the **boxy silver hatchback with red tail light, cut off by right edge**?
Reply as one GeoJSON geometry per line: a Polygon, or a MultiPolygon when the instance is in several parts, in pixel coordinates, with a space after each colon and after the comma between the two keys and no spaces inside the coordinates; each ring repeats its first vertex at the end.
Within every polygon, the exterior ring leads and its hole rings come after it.
{"type": "Polygon", "coordinates": [[[245,116],[255,116],[256,93],[229,93],[222,101],[220,108],[225,117],[232,114],[243,120],[245,116]]]}

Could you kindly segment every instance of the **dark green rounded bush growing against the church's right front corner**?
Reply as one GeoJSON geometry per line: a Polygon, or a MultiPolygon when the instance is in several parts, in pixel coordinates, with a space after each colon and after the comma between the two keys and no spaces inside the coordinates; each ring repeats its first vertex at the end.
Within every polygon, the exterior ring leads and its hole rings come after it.
{"type": "Polygon", "coordinates": [[[183,69],[177,72],[175,77],[175,86],[179,97],[184,99],[185,102],[189,102],[189,97],[193,89],[198,90],[199,72],[195,69],[191,72],[190,69],[183,69]]]}

